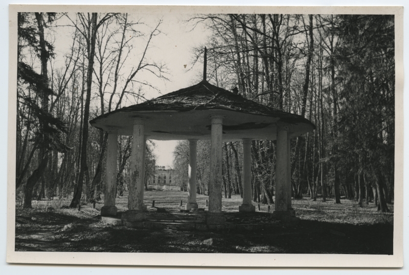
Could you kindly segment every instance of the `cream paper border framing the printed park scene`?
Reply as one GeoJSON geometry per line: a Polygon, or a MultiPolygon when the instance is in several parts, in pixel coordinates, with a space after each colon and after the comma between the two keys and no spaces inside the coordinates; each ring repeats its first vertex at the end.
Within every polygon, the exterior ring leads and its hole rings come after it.
{"type": "Polygon", "coordinates": [[[9,94],[7,163],[7,262],[31,264],[258,266],[258,267],[402,267],[403,266],[403,7],[273,6],[111,6],[9,5],[9,94]],[[201,254],[88,253],[15,251],[15,158],[17,89],[17,12],[127,13],[283,13],[395,15],[395,195],[393,255],[346,254],[201,254]],[[300,257],[302,255],[302,257],[300,257]],[[183,256],[183,257],[181,257],[183,256]],[[157,260],[160,257],[160,262],[157,260]],[[229,262],[229,265],[225,263],[229,262]]]}

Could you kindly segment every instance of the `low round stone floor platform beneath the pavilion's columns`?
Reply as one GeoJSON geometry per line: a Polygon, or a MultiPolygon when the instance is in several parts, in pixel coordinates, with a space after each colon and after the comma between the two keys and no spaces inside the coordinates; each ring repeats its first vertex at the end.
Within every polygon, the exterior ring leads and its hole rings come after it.
{"type": "MultiPolygon", "coordinates": [[[[163,211],[163,210],[162,210],[163,211]]],[[[144,221],[123,221],[122,212],[115,217],[101,217],[102,221],[109,224],[127,226],[131,228],[150,229],[177,229],[177,230],[263,230],[274,227],[291,226],[298,223],[297,217],[278,217],[272,213],[252,212],[242,213],[237,211],[223,212],[225,223],[222,225],[208,225],[205,218],[208,211],[181,212],[180,210],[167,209],[166,212],[150,209],[146,211],[144,221]]]]}

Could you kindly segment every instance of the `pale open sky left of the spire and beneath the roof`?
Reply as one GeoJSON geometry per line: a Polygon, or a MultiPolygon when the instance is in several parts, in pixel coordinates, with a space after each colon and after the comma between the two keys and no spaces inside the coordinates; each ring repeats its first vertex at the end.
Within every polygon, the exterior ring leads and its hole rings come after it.
{"type": "MultiPolygon", "coordinates": [[[[75,14],[69,14],[75,20],[75,14]]],[[[163,23],[159,27],[162,32],[160,35],[153,37],[150,47],[148,48],[146,58],[155,62],[166,63],[168,74],[166,77],[169,81],[157,79],[151,73],[143,72],[138,74],[138,81],[146,81],[157,88],[151,89],[146,87],[144,90],[145,98],[152,99],[162,94],[176,91],[181,88],[194,85],[197,76],[202,73],[202,64],[196,63],[193,66],[193,51],[194,46],[205,44],[210,32],[203,25],[198,24],[193,28],[191,22],[187,20],[191,17],[188,14],[169,15],[169,14],[129,14],[129,19],[134,22],[140,21],[140,24],[135,28],[142,30],[145,33],[150,33],[159,20],[163,23]],[[193,66],[193,67],[192,67],[193,66]]],[[[61,18],[58,25],[64,26],[70,24],[67,18],[61,18]]],[[[62,66],[64,53],[69,52],[72,42],[73,28],[59,27],[55,29],[53,36],[55,37],[54,46],[56,56],[55,65],[62,66]]],[[[132,52],[128,56],[123,68],[124,76],[127,76],[133,66],[139,63],[141,53],[146,45],[146,38],[138,38],[132,40],[132,52]]],[[[98,99],[99,100],[99,99],[98,99]]],[[[95,100],[96,104],[98,100],[95,100]]],[[[124,106],[135,104],[135,102],[127,102],[124,106]]],[[[160,141],[155,140],[154,154],[156,155],[156,165],[172,167],[173,150],[177,141],[160,141]]]]}

